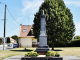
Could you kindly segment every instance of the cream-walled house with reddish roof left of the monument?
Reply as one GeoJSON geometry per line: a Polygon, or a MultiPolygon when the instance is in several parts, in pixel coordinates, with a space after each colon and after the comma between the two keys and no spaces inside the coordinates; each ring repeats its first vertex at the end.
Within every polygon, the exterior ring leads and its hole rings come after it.
{"type": "Polygon", "coordinates": [[[33,36],[32,25],[20,25],[19,43],[21,47],[32,47],[33,43],[37,43],[37,39],[33,36]]]}

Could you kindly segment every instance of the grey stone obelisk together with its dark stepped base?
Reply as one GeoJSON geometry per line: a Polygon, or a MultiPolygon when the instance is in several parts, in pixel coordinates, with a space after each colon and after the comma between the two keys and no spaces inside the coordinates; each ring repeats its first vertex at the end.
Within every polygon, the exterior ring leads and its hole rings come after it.
{"type": "Polygon", "coordinates": [[[47,34],[46,34],[46,26],[45,26],[45,18],[44,10],[42,10],[41,17],[41,25],[40,25],[40,35],[39,35],[39,46],[36,51],[40,54],[45,54],[49,51],[49,47],[47,45],[47,34]]]}

